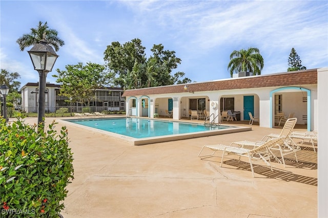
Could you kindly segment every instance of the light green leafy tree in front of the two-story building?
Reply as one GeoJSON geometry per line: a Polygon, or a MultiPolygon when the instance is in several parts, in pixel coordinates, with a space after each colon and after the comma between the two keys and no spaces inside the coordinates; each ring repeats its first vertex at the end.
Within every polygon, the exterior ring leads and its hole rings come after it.
{"type": "Polygon", "coordinates": [[[60,95],[83,102],[86,106],[94,99],[94,92],[109,83],[105,66],[97,63],[67,65],[66,71],[57,69],[56,82],[61,83],[60,95]]]}

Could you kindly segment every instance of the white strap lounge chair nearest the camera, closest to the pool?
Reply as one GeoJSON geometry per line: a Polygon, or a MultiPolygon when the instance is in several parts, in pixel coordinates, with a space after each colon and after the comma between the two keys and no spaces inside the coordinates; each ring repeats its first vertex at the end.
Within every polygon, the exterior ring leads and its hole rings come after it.
{"type": "MultiPolygon", "coordinates": [[[[283,143],[283,138],[275,138],[275,139],[269,140],[269,141],[263,143],[262,145],[255,147],[253,149],[249,149],[249,148],[245,148],[245,147],[225,146],[223,148],[223,154],[222,154],[222,158],[221,158],[220,167],[222,167],[223,158],[227,154],[227,155],[238,155],[239,160],[240,160],[241,156],[248,157],[249,161],[250,161],[253,177],[254,177],[254,169],[253,169],[252,160],[264,161],[264,163],[270,167],[271,171],[273,171],[272,166],[271,166],[271,160],[270,160],[272,157],[272,152],[270,152],[270,148],[277,146],[281,143],[283,143]]],[[[222,145],[222,146],[224,146],[224,145],[222,145]]]]}

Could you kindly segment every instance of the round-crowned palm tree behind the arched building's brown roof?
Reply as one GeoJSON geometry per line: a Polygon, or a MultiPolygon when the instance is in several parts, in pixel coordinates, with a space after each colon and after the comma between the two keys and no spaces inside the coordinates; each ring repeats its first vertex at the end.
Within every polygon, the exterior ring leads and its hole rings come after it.
{"type": "Polygon", "coordinates": [[[249,48],[231,53],[228,70],[230,69],[231,77],[233,73],[239,72],[252,72],[253,75],[261,75],[263,66],[264,60],[260,51],[257,48],[249,48]]]}

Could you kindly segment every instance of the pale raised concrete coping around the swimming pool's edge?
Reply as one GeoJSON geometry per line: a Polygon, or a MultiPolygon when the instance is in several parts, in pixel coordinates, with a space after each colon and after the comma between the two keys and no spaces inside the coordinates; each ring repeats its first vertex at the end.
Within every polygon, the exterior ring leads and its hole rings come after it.
{"type": "MultiPolygon", "coordinates": [[[[126,117],[119,117],[119,118],[126,118],[126,117]]],[[[151,120],[160,120],[158,118],[152,119],[152,118],[144,118],[144,117],[135,117],[139,119],[151,119],[151,120]]],[[[88,118],[90,119],[90,118],[88,118]]],[[[92,118],[92,119],[115,119],[115,118],[92,118]]],[[[225,124],[220,124],[221,126],[233,126],[234,128],[224,128],[224,129],[215,129],[215,130],[206,130],[206,131],[201,131],[201,132],[196,132],[196,133],[184,133],[184,134],[177,134],[177,135],[172,135],[172,136],[156,136],[156,137],[148,137],[148,138],[133,138],[129,136],[124,136],[120,135],[117,133],[112,133],[108,132],[106,130],[101,130],[101,129],[96,129],[93,127],[89,126],[84,126],[80,125],[74,122],[69,122],[69,121],[74,121],[77,119],[61,119],[61,121],[64,121],[65,123],[74,125],[74,126],[79,126],[81,128],[85,128],[88,130],[92,130],[93,132],[100,133],[101,135],[105,136],[110,136],[110,137],[115,137],[116,139],[125,141],[131,145],[147,145],[147,144],[153,144],[153,143],[158,143],[158,142],[169,142],[169,141],[177,141],[177,140],[183,140],[183,139],[193,139],[193,138],[200,138],[200,137],[207,137],[207,136],[215,136],[215,135],[223,135],[223,134],[230,134],[230,133],[239,133],[239,132],[245,132],[245,131],[250,131],[252,130],[252,127],[244,127],[244,126],[237,126],[237,125],[225,125],[225,124]]],[[[80,120],[80,119],[79,119],[80,120]]],[[[83,119],[81,119],[83,120],[83,119]]],[[[162,120],[162,121],[168,121],[168,122],[183,122],[186,123],[186,121],[179,121],[179,120],[162,120]]],[[[201,124],[199,122],[187,122],[187,123],[195,123],[195,124],[201,124]]]]}

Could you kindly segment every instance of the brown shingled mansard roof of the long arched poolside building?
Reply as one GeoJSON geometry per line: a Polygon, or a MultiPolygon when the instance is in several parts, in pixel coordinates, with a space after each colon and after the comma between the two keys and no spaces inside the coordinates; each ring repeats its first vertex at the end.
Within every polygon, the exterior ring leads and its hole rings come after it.
{"type": "MultiPolygon", "coordinates": [[[[270,86],[293,86],[317,84],[317,69],[275,73],[258,76],[229,78],[207,82],[188,83],[190,92],[217,90],[253,89],[270,86]]],[[[158,95],[186,92],[186,84],[157,86],[152,88],[126,90],[122,97],[138,95],[158,95]]]]}

